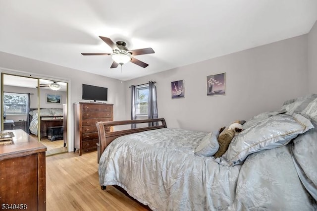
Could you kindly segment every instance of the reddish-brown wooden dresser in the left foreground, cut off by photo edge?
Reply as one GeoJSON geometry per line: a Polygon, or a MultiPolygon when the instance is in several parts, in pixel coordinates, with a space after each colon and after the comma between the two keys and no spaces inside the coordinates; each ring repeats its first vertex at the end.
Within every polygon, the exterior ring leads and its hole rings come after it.
{"type": "Polygon", "coordinates": [[[0,142],[0,205],[3,210],[46,210],[46,147],[23,130],[0,142]],[[5,144],[4,144],[5,143],[5,144]]]}

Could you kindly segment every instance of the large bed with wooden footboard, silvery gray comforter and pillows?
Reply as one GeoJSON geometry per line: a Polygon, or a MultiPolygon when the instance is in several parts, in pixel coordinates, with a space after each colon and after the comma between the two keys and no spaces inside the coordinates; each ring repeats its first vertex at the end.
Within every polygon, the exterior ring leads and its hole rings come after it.
{"type": "Polygon", "coordinates": [[[317,210],[317,95],[254,116],[219,158],[197,152],[202,143],[214,150],[218,130],[167,128],[164,119],[96,126],[102,189],[117,185],[154,211],[317,210]],[[104,129],[148,121],[160,125],[104,129]]]}

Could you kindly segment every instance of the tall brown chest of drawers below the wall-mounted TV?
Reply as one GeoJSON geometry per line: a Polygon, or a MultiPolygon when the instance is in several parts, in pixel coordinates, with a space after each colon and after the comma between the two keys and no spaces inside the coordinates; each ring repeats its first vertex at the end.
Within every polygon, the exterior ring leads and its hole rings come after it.
{"type": "MultiPolygon", "coordinates": [[[[74,103],[74,152],[79,150],[79,156],[97,149],[97,121],[113,121],[113,104],[74,103]]],[[[110,131],[111,127],[105,129],[110,131]]]]}

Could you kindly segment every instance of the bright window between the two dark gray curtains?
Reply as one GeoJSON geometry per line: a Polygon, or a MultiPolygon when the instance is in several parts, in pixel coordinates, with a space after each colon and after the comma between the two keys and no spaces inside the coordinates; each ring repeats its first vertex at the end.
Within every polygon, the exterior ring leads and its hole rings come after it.
{"type": "Polygon", "coordinates": [[[135,113],[137,119],[145,116],[148,117],[148,98],[149,98],[149,85],[137,86],[135,88],[135,113]],[[138,118],[139,117],[139,118],[138,118]]]}

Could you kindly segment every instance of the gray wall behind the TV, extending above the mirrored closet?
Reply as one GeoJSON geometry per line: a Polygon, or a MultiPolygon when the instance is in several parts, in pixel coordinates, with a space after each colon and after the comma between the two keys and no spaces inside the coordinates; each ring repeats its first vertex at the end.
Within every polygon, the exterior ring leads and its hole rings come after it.
{"type": "MultiPolygon", "coordinates": [[[[0,52],[0,71],[22,76],[32,75],[33,77],[43,79],[56,79],[57,81],[68,82],[70,85],[70,89],[68,90],[68,110],[71,111],[68,114],[70,119],[70,121],[68,121],[68,128],[74,128],[73,103],[83,102],[83,100],[81,100],[82,84],[107,87],[107,103],[114,104],[114,120],[125,119],[125,106],[123,106],[125,105],[124,82],[121,83],[119,80],[3,52],[0,52]]],[[[74,131],[73,129],[69,129],[67,132],[68,140],[71,140],[68,145],[68,150],[72,151],[74,147],[74,131]]]]}

